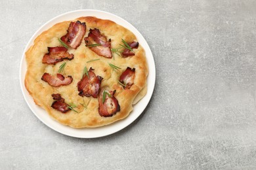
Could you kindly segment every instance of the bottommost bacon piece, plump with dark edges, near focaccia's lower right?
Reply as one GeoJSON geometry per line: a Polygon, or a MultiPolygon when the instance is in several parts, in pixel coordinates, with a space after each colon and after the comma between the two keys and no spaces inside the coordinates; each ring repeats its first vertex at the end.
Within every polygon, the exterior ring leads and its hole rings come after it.
{"type": "Polygon", "coordinates": [[[100,92],[100,97],[98,97],[98,113],[100,114],[100,116],[110,117],[116,114],[116,112],[120,111],[120,105],[116,97],[114,97],[115,93],[116,90],[110,92],[103,90],[102,92],[100,92]],[[111,95],[111,97],[108,94],[105,94],[105,101],[103,103],[104,91],[111,95]]]}

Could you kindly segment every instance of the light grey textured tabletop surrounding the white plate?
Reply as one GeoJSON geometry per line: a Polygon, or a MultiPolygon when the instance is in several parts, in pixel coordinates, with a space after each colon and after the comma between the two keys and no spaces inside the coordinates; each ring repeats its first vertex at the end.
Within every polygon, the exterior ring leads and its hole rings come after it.
{"type": "Polygon", "coordinates": [[[255,1],[1,1],[0,169],[256,169],[255,1]],[[142,33],[156,88],[131,126],[75,139],[38,120],[19,84],[33,33],[64,12],[112,12],[142,33]]]}

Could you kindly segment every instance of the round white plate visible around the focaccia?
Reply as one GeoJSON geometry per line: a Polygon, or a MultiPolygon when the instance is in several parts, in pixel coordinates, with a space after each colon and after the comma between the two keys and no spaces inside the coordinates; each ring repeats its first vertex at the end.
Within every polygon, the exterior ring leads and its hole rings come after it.
{"type": "Polygon", "coordinates": [[[37,116],[39,120],[41,120],[44,124],[51,127],[55,131],[58,131],[59,133],[62,133],[64,135],[79,137],[79,138],[103,137],[127,127],[129,124],[131,124],[134,120],[136,120],[140,116],[140,114],[148,105],[148,102],[150,101],[150,98],[154,91],[155,82],[156,82],[156,67],[155,67],[152,52],[146,40],[142,37],[139,31],[135,27],[133,27],[133,25],[129,24],[129,22],[123,20],[119,16],[116,16],[108,12],[100,11],[100,10],[75,10],[72,12],[61,14],[60,16],[53,18],[52,20],[44,24],[42,27],[40,27],[32,36],[32,38],[30,39],[30,41],[28,42],[24,50],[22,60],[20,63],[20,86],[22,88],[22,93],[24,95],[24,98],[28,103],[28,106],[30,107],[32,112],[35,114],[35,116],[37,116]],[[143,99],[139,101],[139,103],[134,105],[133,111],[129,114],[129,116],[127,116],[127,118],[123,120],[119,120],[114,124],[110,124],[108,126],[102,126],[102,127],[96,127],[96,128],[83,128],[83,129],[75,129],[69,126],[63,126],[62,124],[53,120],[44,109],[35,105],[32,96],[28,93],[24,85],[24,79],[27,71],[25,52],[28,50],[28,48],[30,48],[30,46],[32,46],[34,39],[38,35],[40,35],[43,31],[49,29],[50,27],[52,27],[54,24],[58,22],[63,22],[65,20],[74,20],[75,18],[79,18],[81,16],[96,16],[97,18],[112,20],[117,24],[122,25],[123,27],[126,27],[136,35],[137,40],[140,42],[140,44],[143,46],[144,50],[146,51],[146,58],[147,58],[148,67],[149,67],[149,75],[147,78],[148,92],[143,97],[143,99]]]}

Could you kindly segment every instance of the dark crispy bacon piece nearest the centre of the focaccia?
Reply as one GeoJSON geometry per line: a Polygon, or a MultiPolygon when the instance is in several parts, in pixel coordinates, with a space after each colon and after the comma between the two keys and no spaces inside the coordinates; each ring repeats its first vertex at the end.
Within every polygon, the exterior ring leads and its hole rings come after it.
{"type": "Polygon", "coordinates": [[[103,79],[101,76],[96,76],[93,73],[93,69],[90,68],[88,71],[88,75],[84,75],[83,78],[77,83],[77,90],[79,91],[79,95],[90,97],[91,95],[96,98],[98,96],[98,92],[100,91],[100,83],[103,79]]]}

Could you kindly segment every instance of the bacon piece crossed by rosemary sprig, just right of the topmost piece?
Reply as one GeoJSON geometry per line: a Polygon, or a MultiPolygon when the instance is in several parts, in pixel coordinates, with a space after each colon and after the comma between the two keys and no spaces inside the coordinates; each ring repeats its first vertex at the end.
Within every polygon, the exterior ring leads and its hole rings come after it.
{"type": "Polygon", "coordinates": [[[100,44],[99,46],[91,46],[89,48],[98,54],[98,56],[103,56],[105,58],[112,58],[110,42],[111,39],[107,41],[106,37],[101,35],[100,30],[96,28],[90,29],[88,37],[85,37],[85,44],[87,46],[91,44],[100,44]]]}

